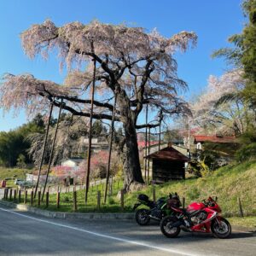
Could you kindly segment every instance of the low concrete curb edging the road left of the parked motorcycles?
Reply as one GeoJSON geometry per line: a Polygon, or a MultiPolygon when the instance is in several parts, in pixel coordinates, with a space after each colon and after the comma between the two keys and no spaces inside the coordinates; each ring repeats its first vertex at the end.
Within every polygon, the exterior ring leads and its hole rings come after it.
{"type": "Polygon", "coordinates": [[[9,201],[0,201],[0,205],[12,207],[20,211],[32,212],[49,218],[79,218],[79,219],[134,219],[134,213],[81,213],[81,212],[50,212],[47,210],[29,207],[23,204],[15,204],[9,201]]]}

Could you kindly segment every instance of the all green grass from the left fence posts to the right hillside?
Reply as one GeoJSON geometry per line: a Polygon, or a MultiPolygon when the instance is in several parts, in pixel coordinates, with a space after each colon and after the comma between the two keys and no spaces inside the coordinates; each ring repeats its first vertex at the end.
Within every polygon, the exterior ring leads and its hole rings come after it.
{"type": "MultiPolygon", "coordinates": [[[[169,193],[177,192],[180,197],[185,198],[185,205],[192,201],[207,199],[209,195],[218,196],[218,203],[225,216],[238,216],[239,207],[237,198],[241,199],[241,206],[246,216],[256,215],[256,161],[233,164],[218,169],[210,177],[195,178],[182,181],[172,181],[163,185],[155,185],[156,198],[166,196],[169,193]]],[[[84,190],[78,193],[78,212],[121,212],[120,201],[117,193],[122,188],[122,183],[114,183],[113,195],[108,196],[108,201],[101,204],[100,211],[96,206],[97,190],[102,190],[102,202],[104,188],[96,186],[90,188],[88,203],[84,204],[84,190]]],[[[62,189],[63,191],[63,189],[62,189]]],[[[125,212],[131,212],[138,194],[147,194],[152,198],[152,186],[145,187],[142,191],[137,191],[125,195],[125,212]]],[[[40,206],[45,208],[44,204],[40,206]]],[[[61,192],[61,207],[56,208],[56,195],[49,196],[50,211],[73,212],[73,193],[61,192]]]]}

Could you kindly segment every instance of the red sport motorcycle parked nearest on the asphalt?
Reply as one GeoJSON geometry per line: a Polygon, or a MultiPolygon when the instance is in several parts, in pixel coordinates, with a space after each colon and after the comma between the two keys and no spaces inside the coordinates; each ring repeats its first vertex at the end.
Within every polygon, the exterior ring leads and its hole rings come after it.
{"type": "Polygon", "coordinates": [[[180,230],[187,232],[211,233],[218,238],[226,238],[231,234],[231,225],[219,215],[221,212],[215,200],[209,197],[207,201],[193,202],[186,209],[169,205],[175,217],[166,216],[160,222],[160,229],[167,237],[176,237],[180,230]]]}

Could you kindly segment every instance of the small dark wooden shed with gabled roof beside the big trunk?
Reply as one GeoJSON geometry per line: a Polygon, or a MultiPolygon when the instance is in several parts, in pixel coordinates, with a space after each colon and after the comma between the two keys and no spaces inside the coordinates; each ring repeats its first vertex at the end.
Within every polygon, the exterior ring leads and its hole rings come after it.
{"type": "Polygon", "coordinates": [[[189,162],[189,158],[170,144],[158,152],[149,154],[147,158],[152,160],[152,177],[155,183],[185,178],[185,162],[189,162]]]}

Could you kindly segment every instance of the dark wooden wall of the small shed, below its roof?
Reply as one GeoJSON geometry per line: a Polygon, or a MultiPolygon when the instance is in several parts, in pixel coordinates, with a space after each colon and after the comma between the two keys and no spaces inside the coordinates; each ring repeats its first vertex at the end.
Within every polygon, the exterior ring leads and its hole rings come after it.
{"type": "Polygon", "coordinates": [[[185,178],[184,163],[180,161],[153,160],[152,168],[155,183],[185,178]]]}

